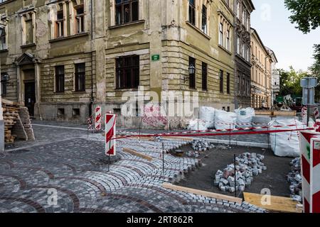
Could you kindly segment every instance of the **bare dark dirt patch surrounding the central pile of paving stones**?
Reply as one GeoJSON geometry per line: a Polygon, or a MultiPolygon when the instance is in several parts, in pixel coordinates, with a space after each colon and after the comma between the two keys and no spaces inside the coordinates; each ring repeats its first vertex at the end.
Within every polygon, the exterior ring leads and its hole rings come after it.
{"type": "MultiPolygon", "coordinates": [[[[218,146],[216,145],[216,148],[209,151],[201,152],[199,159],[203,165],[198,170],[186,175],[186,178],[181,179],[181,182],[176,185],[233,196],[234,193],[222,192],[218,187],[213,186],[213,177],[215,172],[223,170],[227,165],[233,163],[234,154],[238,156],[249,152],[265,155],[265,160],[262,162],[267,166],[267,170],[254,176],[250,187],[245,187],[245,192],[260,194],[262,189],[267,188],[270,189],[272,196],[289,197],[289,183],[286,175],[290,171],[289,162],[293,158],[274,156],[270,149],[233,146],[231,149],[222,150],[217,148],[218,146]]],[[[186,146],[182,150],[189,151],[192,148],[186,146]]],[[[243,194],[238,192],[238,197],[243,197],[243,194]]]]}

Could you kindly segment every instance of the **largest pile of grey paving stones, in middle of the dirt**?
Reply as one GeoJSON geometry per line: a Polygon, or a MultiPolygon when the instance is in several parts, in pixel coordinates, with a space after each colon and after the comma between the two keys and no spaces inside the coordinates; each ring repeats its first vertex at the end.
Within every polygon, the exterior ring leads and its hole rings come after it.
{"type": "Polygon", "coordinates": [[[244,192],[245,187],[251,185],[253,176],[261,174],[262,170],[267,170],[262,162],[264,159],[264,155],[243,153],[235,158],[235,165],[228,165],[223,171],[216,172],[213,184],[223,192],[235,192],[235,189],[244,192]]]}

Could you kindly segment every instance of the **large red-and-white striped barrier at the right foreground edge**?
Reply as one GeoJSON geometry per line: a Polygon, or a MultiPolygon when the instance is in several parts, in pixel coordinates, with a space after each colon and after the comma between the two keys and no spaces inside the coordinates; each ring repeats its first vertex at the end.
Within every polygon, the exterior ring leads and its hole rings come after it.
{"type": "Polygon", "coordinates": [[[320,213],[320,133],[300,133],[304,213],[320,213]]]}

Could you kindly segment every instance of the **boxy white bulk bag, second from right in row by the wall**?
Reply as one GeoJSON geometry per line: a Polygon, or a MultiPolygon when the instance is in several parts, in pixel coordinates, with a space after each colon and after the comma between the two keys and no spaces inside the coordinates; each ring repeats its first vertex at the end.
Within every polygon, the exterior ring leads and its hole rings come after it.
{"type": "Polygon", "coordinates": [[[235,129],[237,115],[226,111],[215,110],[215,129],[235,129]]]}

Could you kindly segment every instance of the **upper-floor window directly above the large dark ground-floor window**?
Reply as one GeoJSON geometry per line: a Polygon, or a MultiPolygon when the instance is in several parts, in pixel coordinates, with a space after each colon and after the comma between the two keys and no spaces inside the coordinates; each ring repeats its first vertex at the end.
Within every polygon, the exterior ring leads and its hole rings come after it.
{"type": "Polygon", "coordinates": [[[116,0],[115,9],[117,25],[139,20],[138,0],[116,0]]]}

